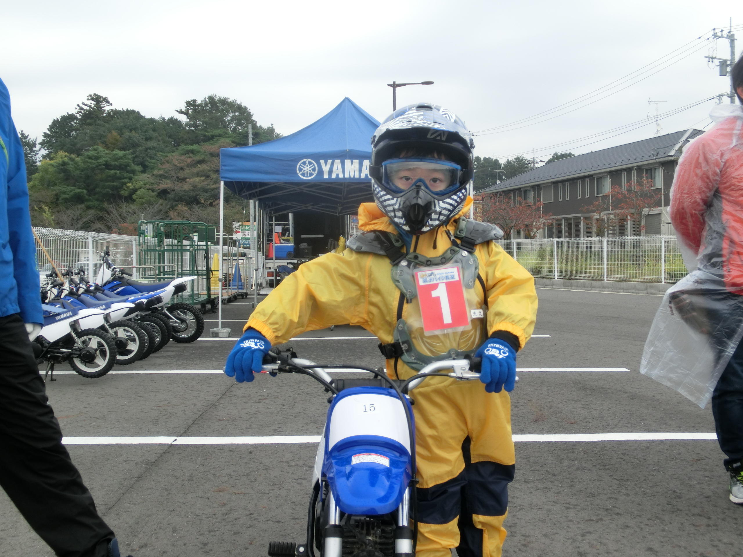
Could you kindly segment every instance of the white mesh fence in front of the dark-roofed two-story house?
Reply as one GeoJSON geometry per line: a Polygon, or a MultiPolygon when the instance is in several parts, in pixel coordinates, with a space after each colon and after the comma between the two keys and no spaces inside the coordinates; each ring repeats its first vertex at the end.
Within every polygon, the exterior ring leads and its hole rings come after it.
{"type": "Polygon", "coordinates": [[[674,283],[687,274],[675,236],[498,243],[535,278],[674,283]]]}

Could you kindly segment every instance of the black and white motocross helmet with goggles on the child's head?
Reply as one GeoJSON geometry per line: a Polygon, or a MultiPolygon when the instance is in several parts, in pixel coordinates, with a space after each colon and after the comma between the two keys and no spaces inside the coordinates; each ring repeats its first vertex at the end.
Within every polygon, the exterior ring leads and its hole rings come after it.
{"type": "Polygon", "coordinates": [[[371,137],[371,189],[395,227],[412,235],[447,224],[467,199],[472,134],[456,114],[419,102],[390,114],[371,137]]]}

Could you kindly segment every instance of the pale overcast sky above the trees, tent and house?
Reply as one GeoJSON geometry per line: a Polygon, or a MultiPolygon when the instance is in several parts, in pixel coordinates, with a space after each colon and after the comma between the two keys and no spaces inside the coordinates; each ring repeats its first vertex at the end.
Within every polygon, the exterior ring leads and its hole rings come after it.
{"type": "MultiPolygon", "coordinates": [[[[654,122],[578,140],[655,114],[649,98],[665,101],[665,112],[727,91],[727,78],[704,59],[712,42],[692,41],[727,27],[730,17],[743,25],[742,4],[35,0],[2,8],[0,78],[16,127],[39,139],[53,118],[91,93],[154,117],[218,94],[243,102],[259,124],[290,134],[343,97],[381,120],[392,110],[386,83],[426,79],[435,84],[398,89],[398,106],[436,102],[478,132],[591,93],[684,45],[692,49],[636,85],[591,97],[586,102],[597,102],[585,108],[475,138],[481,156],[531,157],[536,149],[546,158],[554,150],[582,153],[651,137],[654,122]],[[570,143],[551,147],[562,142],[570,143]]],[[[737,35],[743,39],[743,28],[737,35]]],[[[740,53],[742,40],[737,47],[740,53]]],[[[728,55],[727,41],[718,41],[718,56],[728,55]]],[[[707,125],[713,102],[662,120],[661,133],[707,125]]],[[[562,112],[547,117],[556,114],[562,112]]]]}

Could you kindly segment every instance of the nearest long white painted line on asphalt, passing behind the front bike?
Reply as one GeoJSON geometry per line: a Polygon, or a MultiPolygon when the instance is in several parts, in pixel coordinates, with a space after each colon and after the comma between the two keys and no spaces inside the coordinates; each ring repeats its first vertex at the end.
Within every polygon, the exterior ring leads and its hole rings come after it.
{"type": "MultiPolygon", "coordinates": [[[[573,433],[515,434],[515,443],[589,441],[713,441],[714,433],[573,433]]],[[[275,435],[267,437],[63,437],[65,445],[273,445],[319,443],[319,435],[275,435]]]]}

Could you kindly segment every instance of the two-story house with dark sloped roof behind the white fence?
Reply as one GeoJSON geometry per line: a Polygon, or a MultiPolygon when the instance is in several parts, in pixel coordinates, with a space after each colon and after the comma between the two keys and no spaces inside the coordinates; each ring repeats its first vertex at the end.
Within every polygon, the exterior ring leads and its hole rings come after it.
{"type": "MultiPolygon", "coordinates": [[[[609,229],[609,235],[672,234],[667,208],[669,191],[678,159],[684,146],[703,132],[698,129],[675,131],[646,140],[626,143],[574,157],[554,160],[528,172],[487,186],[475,192],[477,203],[483,203],[483,194],[510,196],[542,201],[542,211],[551,214],[550,226],[540,232],[542,238],[586,238],[594,236],[591,212],[585,209],[601,196],[609,195],[612,186],[625,186],[643,178],[652,180],[661,190],[658,209],[646,216],[644,229],[640,223],[620,222],[609,229]]],[[[521,238],[521,231],[515,238],[521,238]]]]}

